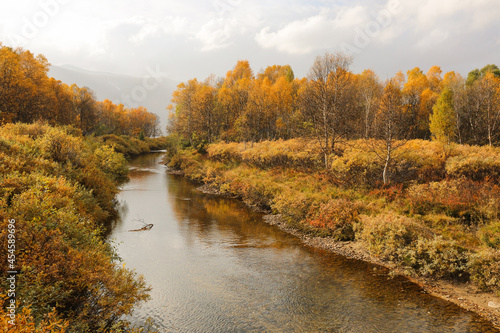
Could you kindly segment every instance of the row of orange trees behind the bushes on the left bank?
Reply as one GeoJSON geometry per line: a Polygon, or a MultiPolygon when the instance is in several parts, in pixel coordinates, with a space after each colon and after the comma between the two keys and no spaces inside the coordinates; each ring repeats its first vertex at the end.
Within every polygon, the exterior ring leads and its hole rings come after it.
{"type": "Polygon", "coordinates": [[[97,101],[87,87],[48,77],[49,67],[43,55],[0,43],[0,124],[46,121],[73,125],[84,135],[161,134],[159,117],[146,108],[126,108],[107,99],[97,101]]]}

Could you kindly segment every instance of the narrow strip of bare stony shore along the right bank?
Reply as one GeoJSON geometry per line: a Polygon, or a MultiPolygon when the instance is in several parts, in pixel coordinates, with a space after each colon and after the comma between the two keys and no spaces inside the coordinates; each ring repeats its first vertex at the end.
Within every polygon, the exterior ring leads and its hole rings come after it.
{"type": "MultiPolygon", "coordinates": [[[[169,173],[182,174],[182,172],[170,171],[169,173]]],[[[199,186],[197,190],[206,194],[224,195],[208,184],[199,186]]],[[[254,210],[263,212],[258,207],[252,205],[248,206],[254,210]]],[[[500,298],[496,297],[493,293],[480,291],[467,283],[454,283],[425,277],[408,277],[390,262],[380,260],[371,255],[360,242],[339,242],[330,238],[306,235],[297,229],[289,227],[280,215],[267,214],[263,216],[263,220],[268,224],[275,225],[279,229],[298,237],[307,246],[320,248],[349,259],[361,260],[385,267],[389,269],[392,274],[402,275],[411,282],[419,285],[425,293],[452,302],[463,309],[480,315],[490,321],[500,331],[500,298]]]]}

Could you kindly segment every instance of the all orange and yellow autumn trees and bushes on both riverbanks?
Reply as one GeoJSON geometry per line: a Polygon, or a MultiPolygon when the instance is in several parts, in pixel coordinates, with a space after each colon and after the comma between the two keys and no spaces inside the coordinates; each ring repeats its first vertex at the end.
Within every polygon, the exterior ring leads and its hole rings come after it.
{"type": "MultiPolygon", "coordinates": [[[[289,65],[255,73],[240,60],[225,77],[180,83],[161,137],[146,108],[98,101],[50,78],[43,55],[0,44],[0,254],[15,219],[17,323],[146,332],[124,316],[151,290],[106,235],[127,159],[155,149],[169,171],[300,235],[500,296],[500,69],[381,80],[353,73],[353,61],[324,53],[297,78],[289,65]]],[[[5,306],[0,315],[8,327],[5,306]]]]}

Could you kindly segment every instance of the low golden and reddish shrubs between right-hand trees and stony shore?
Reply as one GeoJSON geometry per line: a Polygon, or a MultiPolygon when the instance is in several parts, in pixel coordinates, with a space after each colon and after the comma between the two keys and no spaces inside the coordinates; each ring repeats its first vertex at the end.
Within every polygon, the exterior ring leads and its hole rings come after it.
{"type": "Polygon", "coordinates": [[[170,168],[303,233],[363,242],[408,275],[500,290],[499,148],[412,140],[383,185],[383,164],[364,140],[339,144],[327,170],[304,139],[217,143],[203,153],[174,146],[170,168]]]}

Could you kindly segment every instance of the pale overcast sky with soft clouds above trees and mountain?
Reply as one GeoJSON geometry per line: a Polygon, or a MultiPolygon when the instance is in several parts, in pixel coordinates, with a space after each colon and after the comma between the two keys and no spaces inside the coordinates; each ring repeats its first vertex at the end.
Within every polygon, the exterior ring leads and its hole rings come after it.
{"type": "Polygon", "coordinates": [[[500,65],[498,0],[21,0],[0,4],[0,41],[54,65],[172,79],[289,64],[306,76],[325,51],[382,80],[432,65],[500,65]]]}

